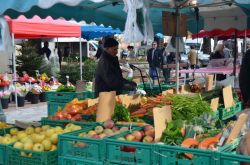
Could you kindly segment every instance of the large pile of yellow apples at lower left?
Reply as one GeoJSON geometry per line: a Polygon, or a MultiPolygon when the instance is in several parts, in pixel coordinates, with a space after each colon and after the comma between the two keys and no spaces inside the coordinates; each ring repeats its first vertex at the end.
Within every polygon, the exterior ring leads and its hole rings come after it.
{"type": "MultiPolygon", "coordinates": [[[[54,151],[57,149],[59,134],[79,129],[81,129],[80,126],[72,123],[66,125],[64,129],[60,126],[51,127],[49,125],[36,128],[28,127],[22,131],[19,131],[17,128],[12,128],[10,134],[0,138],[0,142],[4,144],[15,142],[13,147],[18,149],[38,152],[54,151]]],[[[21,153],[21,155],[22,154],[24,153],[21,153]]]]}

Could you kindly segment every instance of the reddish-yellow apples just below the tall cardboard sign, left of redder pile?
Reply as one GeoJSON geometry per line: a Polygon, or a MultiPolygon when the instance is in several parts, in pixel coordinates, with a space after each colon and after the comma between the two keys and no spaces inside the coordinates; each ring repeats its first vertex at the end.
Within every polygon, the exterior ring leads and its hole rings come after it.
{"type": "Polygon", "coordinates": [[[114,121],[108,120],[103,123],[103,126],[96,126],[93,130],[80,133],[79,136],[100,139],[113,136],[124,131],[128,131],[128,127],[121,127],[119,129],[115,126],[114,121]]]}

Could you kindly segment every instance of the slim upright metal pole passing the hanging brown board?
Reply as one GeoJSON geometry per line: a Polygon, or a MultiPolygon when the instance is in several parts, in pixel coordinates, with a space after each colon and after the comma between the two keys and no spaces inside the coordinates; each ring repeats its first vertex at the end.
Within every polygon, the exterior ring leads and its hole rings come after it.
{"type": "Polygon", "coordinates": [[[176,63],[176,93],[179,93],[179,8],[176,8],[176,34],[175,34],[175,63],[176,63]]]}

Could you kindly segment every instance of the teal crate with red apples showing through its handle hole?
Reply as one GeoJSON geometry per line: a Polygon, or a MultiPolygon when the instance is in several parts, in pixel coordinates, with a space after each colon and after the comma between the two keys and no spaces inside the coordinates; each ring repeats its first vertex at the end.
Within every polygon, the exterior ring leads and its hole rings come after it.
{"type": "Polygon", "coordinates": [[[105,139],[107,164],[152,165],[154,164],[154,144],[117,140],[129,132],[105,139]]]}

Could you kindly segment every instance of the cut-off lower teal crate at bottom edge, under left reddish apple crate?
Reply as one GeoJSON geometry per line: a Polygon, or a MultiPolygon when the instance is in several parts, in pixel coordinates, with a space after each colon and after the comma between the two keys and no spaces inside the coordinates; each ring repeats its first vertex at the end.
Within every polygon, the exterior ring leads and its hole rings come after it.
{"type": "Polygon", "coordinates": [[[60,156],[58,164],[59,165],[103,165],[104,163],[60,156]]]}

